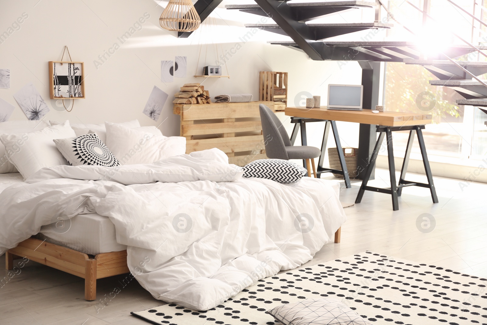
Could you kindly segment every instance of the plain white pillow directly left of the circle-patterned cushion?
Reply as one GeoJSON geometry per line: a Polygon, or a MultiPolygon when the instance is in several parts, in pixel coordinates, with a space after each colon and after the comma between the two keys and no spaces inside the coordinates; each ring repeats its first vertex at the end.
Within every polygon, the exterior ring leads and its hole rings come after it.
{"type": "Polygon", "coordinates": [[[69,121],[56,126],[48,126],[40,131],[23,134],[1,134],[0,141],[5,146],[8,160],[27,179],[44,167],[68,165],[57,150],[54,139],[75,137],[69,121]]]}

